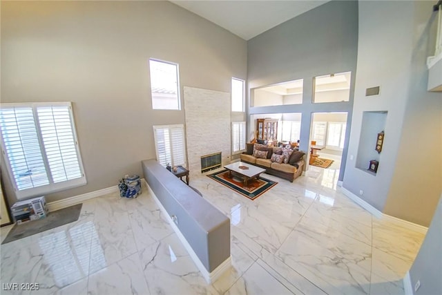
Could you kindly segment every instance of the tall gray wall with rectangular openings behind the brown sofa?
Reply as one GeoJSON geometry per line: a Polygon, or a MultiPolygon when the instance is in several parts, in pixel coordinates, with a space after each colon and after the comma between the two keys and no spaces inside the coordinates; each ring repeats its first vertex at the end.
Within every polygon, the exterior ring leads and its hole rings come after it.
{"type": "MultiPolygon", "coordinates": [[[[350,132],[356,57],[358,2],[330,1],[247,41],[247,75],[252,88],[304,79],[302,104],[249,108],[249,114],[302,113],[300,149],[307,151],[311,113],[348,112],[350,132]],[[313,78],[352,71],[349,102],[313,104],[313,78]]],[[[251,124],[253,126],[253,124],[251,124]]],[[[253,134],[253,130],[248,131],[253,134]]],[[[343,180],[347,143],[339,180],[343,180]]]]}

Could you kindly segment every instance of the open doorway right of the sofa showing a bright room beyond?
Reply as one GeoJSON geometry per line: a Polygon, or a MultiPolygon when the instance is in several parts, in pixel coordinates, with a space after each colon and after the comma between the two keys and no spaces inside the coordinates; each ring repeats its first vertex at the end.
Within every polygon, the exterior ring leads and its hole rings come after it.
{"type": "Polygon", "coordinates": [[[347,115],[347,112],[311,115],[309,169],[327,175],[333,186],[340,172],[347,115]]]}

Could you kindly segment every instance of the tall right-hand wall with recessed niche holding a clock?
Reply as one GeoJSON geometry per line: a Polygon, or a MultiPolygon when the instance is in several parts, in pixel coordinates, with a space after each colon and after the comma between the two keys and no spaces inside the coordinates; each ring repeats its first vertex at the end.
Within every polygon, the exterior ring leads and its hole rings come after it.
{"type": "Polygon", "coordinates": [[[358,73],[343,181],[357,196],[363,190],[361,198],[379,211],[424,226],[441,193],[442,97],[426,91],[432,23],[429,1],[359,2],[358,73]],[[398,12],[401,17],[392,17],[398,12]],[[365,97],[373,86],[381,93],[365,97]],[[355,166],[364,111],[388,112],[376,175],[355,166]]]}

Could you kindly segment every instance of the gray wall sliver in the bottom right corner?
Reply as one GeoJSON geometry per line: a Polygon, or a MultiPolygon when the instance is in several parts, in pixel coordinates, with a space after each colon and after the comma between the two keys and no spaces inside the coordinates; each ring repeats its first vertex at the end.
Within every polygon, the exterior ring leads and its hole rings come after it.
{"type": "Polygon", "coordinates": [[[420,280],[421,287],[414,294],[442,294],[442,196],[436,207],[425,240],[410,269],[412,287],[420,280]]]}

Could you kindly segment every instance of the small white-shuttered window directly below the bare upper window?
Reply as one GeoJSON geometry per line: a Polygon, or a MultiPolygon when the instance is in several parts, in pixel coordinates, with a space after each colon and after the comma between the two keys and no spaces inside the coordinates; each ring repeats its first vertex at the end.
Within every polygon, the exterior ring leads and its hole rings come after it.
{"type": "Polygon", "coordinates": [[[184,142],[184,125],[153,126],[157,161],[166,166],[186,165],[186,146],[184,142]]]}

